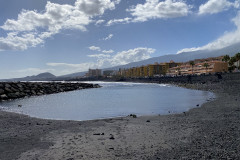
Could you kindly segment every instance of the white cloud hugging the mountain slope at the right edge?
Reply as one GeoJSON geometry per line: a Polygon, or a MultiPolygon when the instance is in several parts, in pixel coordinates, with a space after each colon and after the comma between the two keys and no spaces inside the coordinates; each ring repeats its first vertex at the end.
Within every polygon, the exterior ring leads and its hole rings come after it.
{"type": "Polygon", "coordinates": [[[213,42],[208,43],[202,47],[194,47],[194,48],[185,48],[177,53],[182,52],[191,52],[191,51],[199,51],[199,50],[217,50],[222,49],[237,43],[240,43],[240,11],[238,12],[237,16],[232,19],[232,22],[236,25],[237,29],[232,32],[227,32],[223,36],[219,37],[213,42]]]}

